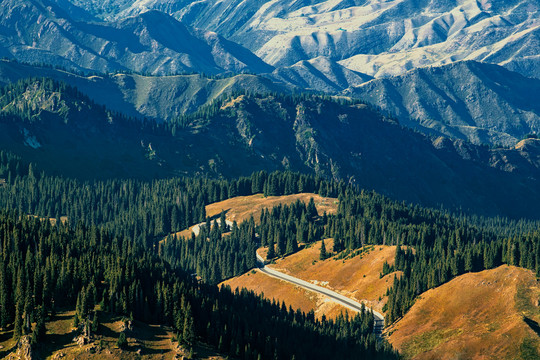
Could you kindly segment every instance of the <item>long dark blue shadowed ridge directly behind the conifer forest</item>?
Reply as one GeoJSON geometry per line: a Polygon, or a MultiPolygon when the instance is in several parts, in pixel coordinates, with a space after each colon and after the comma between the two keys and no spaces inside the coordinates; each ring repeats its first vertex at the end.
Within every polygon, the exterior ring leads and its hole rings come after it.
{"type": "Polygon", "coordinates": [[[3,149],[55,174],[237,177],[290,169],[435,207],[539,213],[537,139],[488,149],[429,138],[354,101],[240,94],[141,124],[65,84],[27,80],[5,87],[0,103],[3,149]]]}

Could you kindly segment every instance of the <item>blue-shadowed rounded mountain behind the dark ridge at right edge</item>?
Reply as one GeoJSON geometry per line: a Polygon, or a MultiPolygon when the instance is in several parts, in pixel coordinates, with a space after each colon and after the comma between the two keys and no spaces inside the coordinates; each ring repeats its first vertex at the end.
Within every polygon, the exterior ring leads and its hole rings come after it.
{"type": "Polygon", "coordinates": [[[472,61],[421,68],[348,89],[400,123],[476,144],[514,146],[540,132],[540,80],[472,61]]]}

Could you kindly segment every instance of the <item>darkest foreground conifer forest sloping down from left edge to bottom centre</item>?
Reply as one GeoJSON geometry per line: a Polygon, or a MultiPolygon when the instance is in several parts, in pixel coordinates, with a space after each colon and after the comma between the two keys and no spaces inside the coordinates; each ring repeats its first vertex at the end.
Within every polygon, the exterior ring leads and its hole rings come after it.
{"type": "Polygon", "coordinates": [[[200,339],[242,359],[397,357],[375,339],[368,311],[318,320],[252,292],[199,283],[158,249],[103,227],[0,211],[0,244],[0,326],[15,338],[46,341],[45,321],[75,308],[74,324],[85,331],[99,332],[96,312],[110,312],[171,326],[188,348],[200,339]]]}

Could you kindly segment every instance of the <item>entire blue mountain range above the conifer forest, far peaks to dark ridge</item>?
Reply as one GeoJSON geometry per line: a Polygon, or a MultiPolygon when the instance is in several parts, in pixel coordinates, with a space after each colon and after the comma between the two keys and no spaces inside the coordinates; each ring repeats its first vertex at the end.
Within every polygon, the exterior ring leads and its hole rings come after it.
{"type": "MultiPolygon", "coordinates": [[[[537,48],[533,2],[8,0],[3,5],[2,55],[18,61],[0,62],[0,82],[52,78],[75,86],[100,111],[122,114],[96,115],[103,126],[89,134],[83,134],[84,127],[61,130],[65,125],[52,132],[47,122],[38,128],[33,126],[40,122],[9,125],[6,134],[19,134],[18,140],[6,138],[4,147],[30,159],[62,157],[63,140],[51,143],[58,150],[52,153],[47,141],[65,136],[84,140],[66,155],[72,157],[66,164],[86,153],[81,158],[95,169],[100,166],[95,159],[115,164],[131,154],[133,164],[153,164],[148,166],[155,171],[146,175],[230,177],[260,168],[292,169],[429,206],[513,217],[528,216],[536,206],[529,200],[536,198],[538,179],[540,85],[534,71],[524,71],[534,66],[518,66],[538,60],[524,55],[537,48]],[[428,29],[438,29],[440,36],[428,29]],[[473,33],[474,41],[457,47],[473,33]],[[458,61],[480,59],[471,54],[482,46],[494,51],[493,41],[508,45],[509,39],[522,45],[520,52],[507,52],[510,57],[496,64],[458,61]],[[450,48],[451,59],[441,58],[450,48]],[[412,52],[428,49],[435,55],[413,61],[412,52]],[[373,71],[351,60],[367,54],[374,64],[390,53],[408,54],[408,64],[385,60],[394,70],[373,71]],[[249,74],[235,75],[239,72],[249,74]],[[335,104],[312,95],[293,96],[294,101],[276,95],[306,91],[335,95],[335,104]],[[227,101],[231,105],[225,106],[227,101]],[[349,103],[356,105],[336,105],[349,103]],[[148,119],[162,130],[137,130],[138,120],[113,129],[106,125],[110,116],[148,119]],[[108,131],[127,150],[115,153],[114,142],[101,143],[112,139],[108,131]],[[42,146],[34,149],[37,143],[42,146]],[[88,153],[96,146],[114,155],[88,153]]],[[[145,176],[131,173],[135,165],[110,166],[110,175],[145,176]]]]}

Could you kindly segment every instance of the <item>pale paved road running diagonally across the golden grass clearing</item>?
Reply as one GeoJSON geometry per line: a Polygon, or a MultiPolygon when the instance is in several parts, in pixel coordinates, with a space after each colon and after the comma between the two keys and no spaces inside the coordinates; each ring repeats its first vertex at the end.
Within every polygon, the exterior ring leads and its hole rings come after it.
{"type": "MultiPolygon", "coordinates": [[[[298,285],[306,290],[310,290],[310,291],[314,291],[316,293],[322,294],[332,299],[336,303],[346,307],[347,309],[351,309],[353,311],[358,311],[358,312],[362,311],[363,304],[357,302],[356,300],[350,299],[346,296],[338,294],[337,292],[324,288],[322,286],[314,285],[305,280],[295,278],[294,276],[284,274],[280,271],[277,271],[277,270],[274,270],[265,266],[265,260],[258,253],[257,253],[257,266],[259,268],[259,271],[261,271],[263,274],[266,274],[268,276],[271,276],[271,277],[274,277],[283,281],[287,281],[294,285],[298,285]]],[[[382,316],[381,313],[373,309],[369,309],[365,306],[364,308],[366,310],[371,310],[371,312],[373,313],[373,317],[375,318],[373,332],[375,333],[375,335],[380,337],[382,335],[382,330],[384,328],[384,316],[382,316]]]]}

